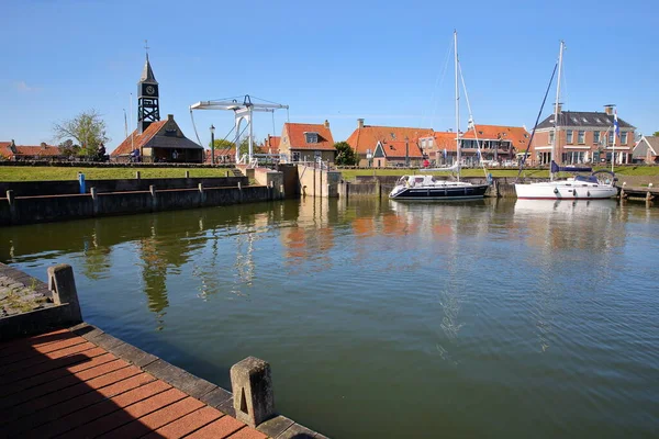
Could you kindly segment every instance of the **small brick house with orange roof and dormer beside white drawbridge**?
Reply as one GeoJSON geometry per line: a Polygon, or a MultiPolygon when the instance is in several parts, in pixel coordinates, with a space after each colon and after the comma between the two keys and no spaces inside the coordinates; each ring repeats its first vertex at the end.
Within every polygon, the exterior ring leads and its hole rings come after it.
{"type": "Polygon", "coordinates": [[[334,162],[336,148],[330,131],[330,122],[324,124],[284,123],[279,142],[279,153],[286,154],[290,161],[334,162]]]}

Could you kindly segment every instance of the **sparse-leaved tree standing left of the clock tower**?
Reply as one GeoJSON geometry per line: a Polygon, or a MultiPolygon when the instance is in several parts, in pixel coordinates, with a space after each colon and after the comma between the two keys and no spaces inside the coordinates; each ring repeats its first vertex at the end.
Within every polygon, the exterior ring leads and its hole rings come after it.
{"type": "MultiPolygon", "coordinates": [[[[94,156],[99,146],[110,142],[105,134],[105,121],[96,110],[87,110],[76,117],[53,125],[56,140],[75,139],[80,145],[80,155],[94,156]]],[[[72,142],[72,140],[71,140],[72,142]]]]}

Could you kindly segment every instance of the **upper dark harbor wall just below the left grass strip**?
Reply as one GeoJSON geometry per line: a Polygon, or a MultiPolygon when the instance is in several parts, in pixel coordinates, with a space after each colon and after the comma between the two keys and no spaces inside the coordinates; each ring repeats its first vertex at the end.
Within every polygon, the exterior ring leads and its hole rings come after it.
{"type": "MultiPolygon", "coordinates": [[[[136,171],[137,172],[137,171],[136,171]]],[[[119,180],[87,180],[86,193],[96,188],[98,193],[148,191],[155,185],[159,189],[196,189],[199,184],[204,188],[230,188],[249,184],[247,177],[234,177],[230,171],[227,177],[219,178],[163,178],[163,179],[119,179],[119,180]],[[228,177],[231,176],[231,177],[228,177]]],[[[57,181],[10,181],[0,182],[0,193],[12,190],[14,196],[58,195],[80,193],[80,183],[77,180],[57,181]]]]}

